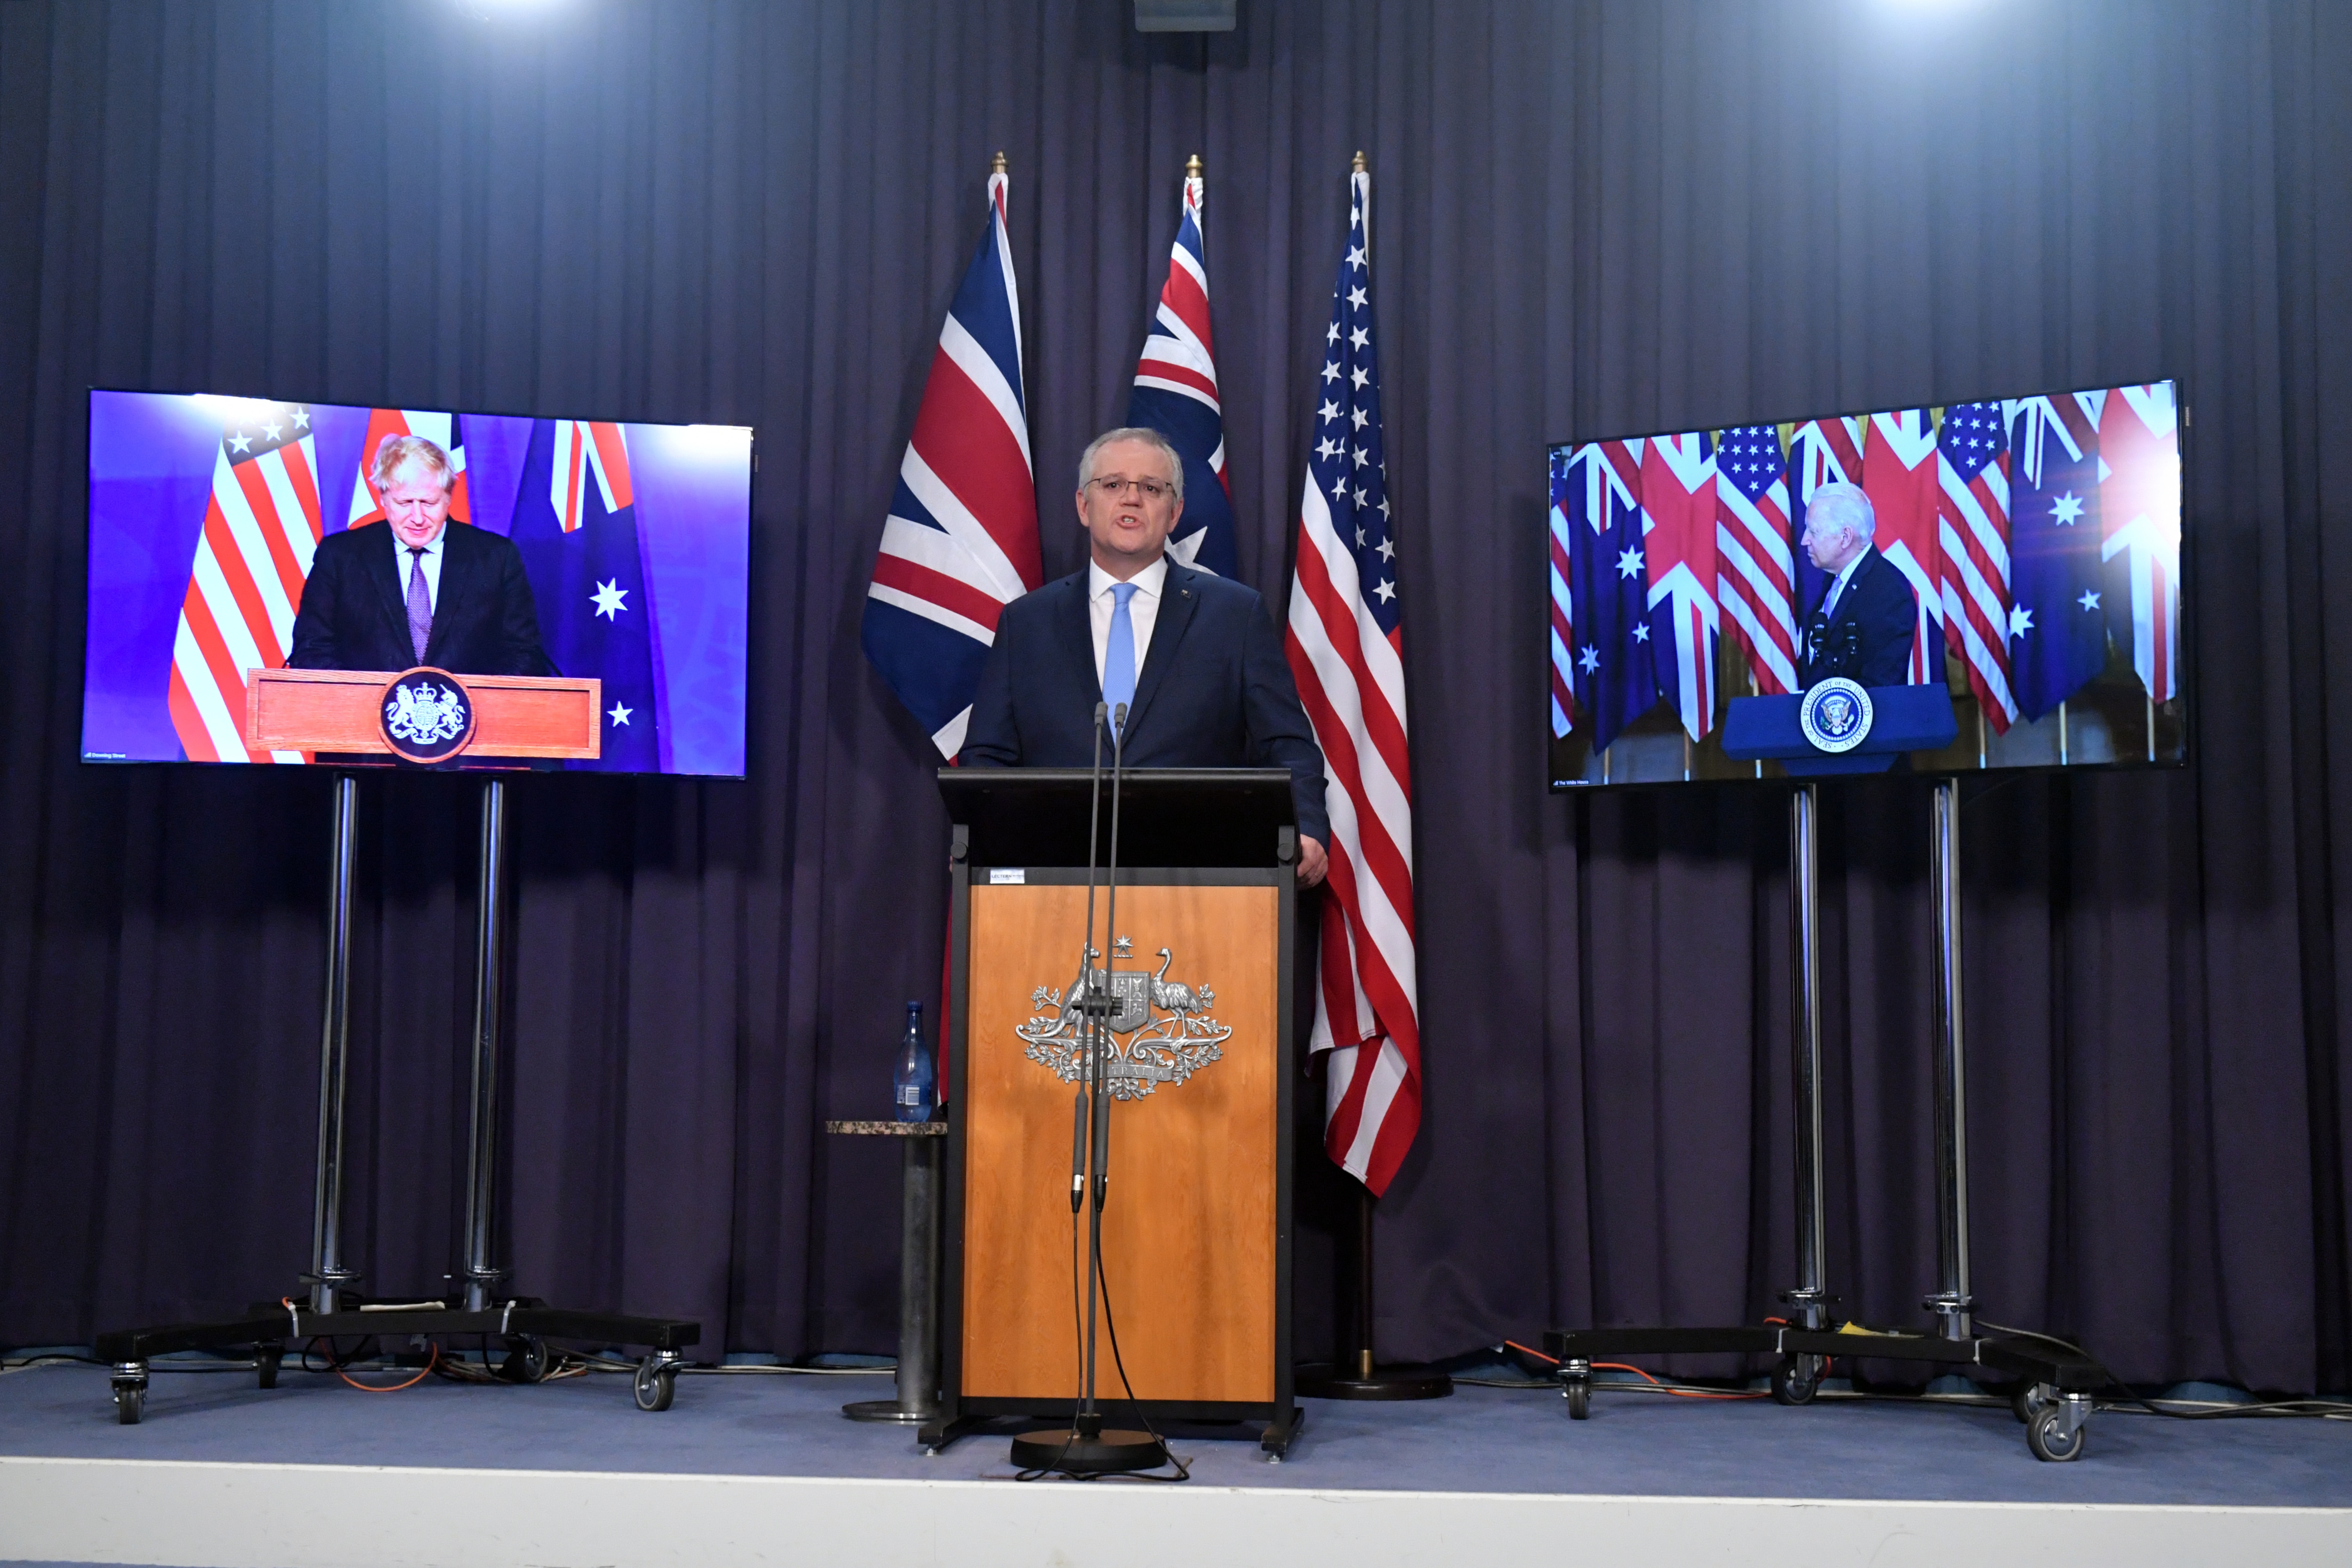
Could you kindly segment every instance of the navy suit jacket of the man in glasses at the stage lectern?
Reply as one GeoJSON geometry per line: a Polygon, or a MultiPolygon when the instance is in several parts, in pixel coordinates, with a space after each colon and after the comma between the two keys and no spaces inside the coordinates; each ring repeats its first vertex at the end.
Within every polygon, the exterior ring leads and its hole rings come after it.
{"type": "MultiPolygon", "coordinates": [[[[1087,574],[1023,595],[997,616],[981,691],[964,729],[964,766],[1094,764],[1094,625],[1087,574]]],[[[1108,764],[1108,748],[1103,762],[1108,764]]],[[[1329,844],[1322,748],[1298,705],[1265,599],[1254,588],[1178,567],[1160,590],[1152,642],[1136,672],[1122,762],[1131,769],[1284,766],[1298,832],[1329,844]]]]}

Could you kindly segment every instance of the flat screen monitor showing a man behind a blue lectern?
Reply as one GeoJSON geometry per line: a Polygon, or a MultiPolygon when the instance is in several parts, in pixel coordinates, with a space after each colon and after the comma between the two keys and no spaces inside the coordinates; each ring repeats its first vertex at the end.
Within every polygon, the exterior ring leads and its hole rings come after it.
{"type": "Polygon", "coordinates": [[[2171,381],[1550,449],[1555,790],[2180,764],[2171,381]]]}

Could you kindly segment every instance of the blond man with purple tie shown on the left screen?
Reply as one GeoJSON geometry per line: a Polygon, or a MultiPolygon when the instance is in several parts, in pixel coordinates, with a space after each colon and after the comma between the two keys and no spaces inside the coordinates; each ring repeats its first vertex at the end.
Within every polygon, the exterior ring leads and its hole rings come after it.
{"type": "Polygon", "coordinates": [[[386,527],[318,541],[287,668],[550,675],[522,552],[499,534],[449,527],[449,454],[386,435],[367,477],[386,527]]]}

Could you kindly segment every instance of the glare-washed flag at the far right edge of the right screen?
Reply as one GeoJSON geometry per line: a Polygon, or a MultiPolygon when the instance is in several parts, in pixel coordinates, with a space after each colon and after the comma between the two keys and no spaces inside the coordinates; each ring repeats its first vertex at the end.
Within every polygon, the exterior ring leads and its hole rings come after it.
{"type": "Polygon", "coordinates": [[[2140,684],[2169,703],[2180,693],[2180,425],[2169,381],[2107,393],[2098,456],[2107,630],[2129,635],[2140,684]]]}

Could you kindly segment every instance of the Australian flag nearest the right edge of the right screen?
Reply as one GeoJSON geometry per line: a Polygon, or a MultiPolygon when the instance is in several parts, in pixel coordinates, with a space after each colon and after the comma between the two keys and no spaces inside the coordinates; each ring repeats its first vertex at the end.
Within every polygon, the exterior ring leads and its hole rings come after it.
{"type": "Polygon", "coordinates": [[[2058,393],[2009,404],[2009,686],[2018,712],[2039,719],[2107,668],[2096,402],[2058,393]]]}

